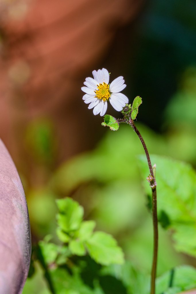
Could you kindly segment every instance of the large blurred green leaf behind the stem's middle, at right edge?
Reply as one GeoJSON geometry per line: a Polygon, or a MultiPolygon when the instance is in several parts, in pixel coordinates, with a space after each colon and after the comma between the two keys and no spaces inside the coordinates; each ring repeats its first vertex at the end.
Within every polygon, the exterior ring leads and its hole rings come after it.
{"type": "MultiPolygon", "coordinates": [[[[171,158],[151,156],[157,165],[158,219],[165,228],[174,230],[178,251],[196,256],[196,172],[193,168],[171,158]]],[[[149,174],[144,156],[140,157],[143,176],[149,174]]],[[[148,183],[146,192],[150,193],[148,183]]]]}

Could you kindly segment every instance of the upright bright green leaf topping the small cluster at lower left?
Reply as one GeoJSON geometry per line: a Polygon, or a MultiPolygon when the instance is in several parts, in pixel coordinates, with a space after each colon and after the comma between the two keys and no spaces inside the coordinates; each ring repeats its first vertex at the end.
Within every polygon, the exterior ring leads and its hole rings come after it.
{"type": "Polygon", "coordinates": [[[59,227],[68,233],[80,228],[83,218],[83,207],[71,198],[58,199],[57,206],[59,213],[57,214],[57,222],[59,227]]]}

